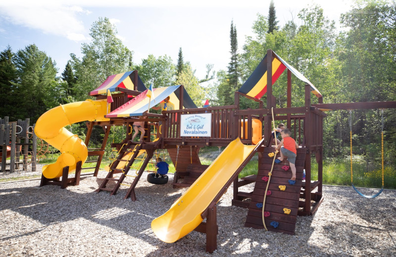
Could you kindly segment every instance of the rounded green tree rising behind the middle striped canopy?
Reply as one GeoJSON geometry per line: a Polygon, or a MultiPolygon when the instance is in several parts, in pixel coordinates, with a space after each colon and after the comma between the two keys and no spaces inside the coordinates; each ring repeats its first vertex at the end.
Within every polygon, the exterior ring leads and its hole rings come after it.
{"type": "Polygon", "coordinates": [[[136,69],[145,85],[152,83],[154,87],[162,87],[175,84],[176,67],[172,63],[172,58],[167,55],[155,58],[150,54],[136,69]]]}

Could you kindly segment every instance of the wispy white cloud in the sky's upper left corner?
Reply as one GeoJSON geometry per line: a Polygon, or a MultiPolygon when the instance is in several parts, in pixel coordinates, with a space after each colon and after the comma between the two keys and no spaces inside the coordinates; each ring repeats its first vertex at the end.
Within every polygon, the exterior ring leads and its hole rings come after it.
{"type": "Polygon", "coordinates": [[[83,22],[79,14],[89,14],[82,7],[67,6],[56,2],[8,2],[0,3],[0,15],[9,22],[37,29],[45,34],[63,36],[73,41],[86,40],[83,22]]]}

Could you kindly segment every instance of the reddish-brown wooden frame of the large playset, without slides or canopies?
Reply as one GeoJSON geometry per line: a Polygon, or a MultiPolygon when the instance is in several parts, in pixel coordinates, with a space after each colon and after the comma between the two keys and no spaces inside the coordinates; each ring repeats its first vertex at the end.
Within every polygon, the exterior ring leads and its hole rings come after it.
{"type": "MultiPolygon", "coordinates": [[[[122,150],[125,148],[125,144],[131,138],[131,135],[128,131],[128,128],[132,125],[133,122],[136,121],[144,121],[146,122],[145,129],[148,130],[148,135],[150,135],[150,127],[157,126],[161,124],[157,129],[157,136],[159,140],[155,143],[150,142],[150,136],[147,136],[144,144],[142,144],[141,148],[145,149],[150,154],[150,158],[153,156],[153,152],[156,149],[167,149],[169,155],[172,159],[173,164],[177,168],[174,174],[174,184],[178,182],[178,179],[182,179],[185,176],[188,176],[189,170],[188,167],[195,165],[199,167],[200,161],[198,157],[199,148],[204,146],[227,146],[231,141],[236,138],[240,138],[241,141],[245,144],[252,144],[252,120],[258,119],[262,122],[263,127],[263,140],[259,145],[257,145],[256,149],[253,151],[254,155],[258,152],[259,160],[264,157],[264,155],[271,148],[271,132],[273,130],[272,127],[272,111],[275,115],[275,121],[284,121],[286,120],[286,127],[292,129],[292,137],[296,139],[298,145],[300,146],[299,151],[304,153],[304,158],[302,160],[301,166],[301,176],[302,176],[302,168],[305,170],[305,181],[302,181],[303,184],[299,184],[300,189],[296,191],[295,196],[297,196],[297,200],[288,200],[283,199],[286,204],[293,205],[297,203],[297,207],[295,206],[294,217],[297,215],[312,215],[314,214],[320,204],[323,201],[322,195],[322,186],[323,186],[323,119],[327,116],[321,109],[331,109],[331,110],[345,110],[345,109],[372,109],[372,108],[396,108],[396,102],[371,102],[371,103],[344,103],[344,104],[324,104],[323,97],[318,98],[317,104],[312,104],[311,101],[311,88],[310,85],[305,85],[304,92],[304,106],[292,106],[292,76],[291,71],[287,71],[287,107],[286,108],[276,108],[276,100],[272,94],[272,59],[273,59],[273,51],[267,50],[267,100],[266,105],[264,107],[264,102],[241,92],[235,92],[234,95],[234,105],[228,106],[218,106],[218,107],[206,107],[206,108],[195,108],[195,109],[183,109],[183,91],[184,87],[180,86],[179,89],[179,110],[171,110],[171,111],[162,111],[161,114],[153,114],[149,112],[145,112],[143,115],[148,116],[146,119],[139,118],[110,118],[109,121],[106,122],[88,122],[88,132],[85,140],[85,144],[88,146],[90,137],[92,134],[92,129],[94,126],[100,126],[104,130],[104,138],[101,144],[101,147],[98,149],[89,149],[89,156],[98,156],[97,165],[95,167],[95,171],[93,172],[94,176],[98,175],[99,166],[104,154],[104,148],[108,140],[110,127],[111,126],[127,126],[126,137],[121,143],[113,143],[112,147],[117,148],[117,150],[122,150]],[[252,101],[258,102],[258,109],[248,109],[242,110],[240,108],[240,97],[247,97],[252,101]],[[212,130],[210,137],[185,137],[180,135],[180,121],[182,114],[203,114],[203,113],[211,113],[212,114],[212,130]],[[247,122],[247,126],[242,126],[241,123],[247,122]],[[222,126],[220,126],[222,124],[222,126]],[[318,163],[318,180],[311,181],[311,157],[315,156],[316,162],[318,163]],[[179,159],[178,159],[179,158],[179,159]],[[315,192],[313,192],[315,190],[315,192]]],[[[130,100],[128,95],[136,96],[140,94],[137,90],[138,85],[138,76],[137,71],[134,71],[135,76],[135,90],[125,89],[117,87],[118,93],[112,94],[112,98],[114,102],[111,104],[111,111],[116,108],[122,106],[126,102],[130,100]]],[[[105,99],[105,95],[97,95],[97,99],[105,99]]],[[[132,146],[133,144],[129,143],[126,148],[132,146]]],[[[132,146],[133,147],[133,146],[132,146]]],[[[272,147],[273,148],[273,147],[272,147]]],[[[216,203],[220,200],[221,196],[226,192],[229,186],[234,184],[233,191],[233,200],[232,205],[243,207],[243,208],[251,208],[247,202],[243,201],[246,198],[252,196],[252,193],[244,193],[239,192],[239,187],[247,185],[252,182],[257,182],[257,177],[250,178],[242,178],[242,180],[238,179],[239,173],[246,166],[247,162],[252,157],[246,159],[246,161],[237,169],[234,175],[228,180],[228,182],[224,185],[224,187],[220,190],[220,192],[214,197],[213,201],[209,204],[207,209],[201,214],[203,219],[206,218],[206,222],[202,222],[195,230],[198,232],[202,232],[206,234],[206,251],[212,253],[217,248],[217,214],[216,214],[216,203]]],[[[129,161],[130,163],[134,161],[136,157],[132,157],[129,161]]],[[[148,164],[148,159],[146,159],[144,166],[148,164]]],[[[129,166],[130,167],[130,166],[129,166]]],[[[129,170],[129,167],[127,170],[129,170]]],[[[84,169],[84,168],[82,168],[84,169]]],[[[111,174],[105,178],[105,180],[116,180],[113,178],[113,173],[120,173],[121,171],[117,171],[116,168],[110,167],[111,174]]],[[[145,167],[141,168],[139,171],[139,175],[135,178],[132,183],[130,189],[128,190],[127,195],[124,199],[131,197],[132,201],[137,200],[134,192],[134,188],[137,185],[142,172],[145,167]]],[[[127,171],[126,171],[127,172],[127,171]]],[[[126,174],[125,172],[125,174],[126,174]]],[[[116,188],[108,189],[106,188],[106,183],[103,183],[98,192],[110,191],[111,195],[115,194],[118,190],[118,187],[122,181],[118,181],[116,184],[116,188]]],[[[299,182],[301,183],[301,182],[299,182]]],[[[294,219],[295,220],[295,219],[294,219]]],[[[295,222],[295,221],[294,221],[295,222]]],[[[254,225],[253,227],[262,228],[260,225],[254,225]]],[[[294,234],[294,226],[290,226],[290,230],[281,231],[290,234],[294,234]]],[[[272,231],[276,231],[271,229],[272,231]]]]}

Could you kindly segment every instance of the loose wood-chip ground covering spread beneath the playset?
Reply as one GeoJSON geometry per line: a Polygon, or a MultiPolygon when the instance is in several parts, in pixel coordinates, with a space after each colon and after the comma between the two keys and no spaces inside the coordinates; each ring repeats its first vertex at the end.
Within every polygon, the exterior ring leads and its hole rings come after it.
{"type": "Polygon", "coordinates": [[[217,250],[208,254],[204,234],[167,244],[151,230],[186,189],[149,184],[144,174],[138,201],[124,201],[126,187],[115,196],[94,192],[105,174],[63,190],[39,180],[0,184],[0,256],[396,256],[396,191],[364,199],[352,188],[324,186],[317,213],[297,217],[290,236],[244,227],[247,209],[231,206],[230,189],[217,209],[217,250]]]}

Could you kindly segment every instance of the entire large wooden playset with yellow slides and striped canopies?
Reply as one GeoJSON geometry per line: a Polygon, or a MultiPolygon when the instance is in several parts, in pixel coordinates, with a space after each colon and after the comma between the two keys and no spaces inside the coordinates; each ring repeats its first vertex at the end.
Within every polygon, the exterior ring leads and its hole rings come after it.
{"type": "MultiPolygon", "coordinates": [[[[38,136],[53,140],[60,146],[62,155],[52,166],[43,169],[42,185],[48,179],[62,176],[63,187],[67,185],[67,173],[76,171],[74,184],[77,184],[81,165],[87,156],[98,156],[94,176],[97,176],[104,154],[110,127],[127,128],[122,142],[111,144],[117,149],[117,158],[108,167],[97,192],[117,193],[120,186],[128,186],[124,197],[136,201],[135,187],[151,158],[159,149],[166,149],[175,166],[174,187],[189,189],[170,207],[169,211],[152,221],[152,229],[158,238],[172,243],[196,230],[206,234],[206,251],[212,253],[217,248],[216,204],[225,191],[233,184],[232,205],[247,208],[245,226],[267,229],[276,232],[294,234],[297,215],[312,215],[323,201],[323,118],[324,109],[371,109],[396,108],[396,102],[323,104],[320,92],[298,71],[287,64],[272,50],[266,56],[241,89],[235,92],[234,105],[197,108],[191,101],[184,86],[154,88],[148,97],[137,71],[113,75],[91,92],[96,100],[66,104],[50,110],[37,122],[38,136]],[[276,108],[272,85],[287,69],[287,107],[276,108]],[[304,106],[292,107],[292,73],[306,83],[304,106]],[[112,103],[108,108],[107,92],[112,103]],[[318,98],[317,104],[311,103],[311,92],[318,98]],[[266,106],[259,100],[267,93],[266,106]],[[163,110],[161,114],[148,112],[148,106],[154,106],[170,96],[175,110],[163,110]],[[132,97],[132,99],[131,99],[132,97]],[[240,109],[240,97],[258,102],[258,109],[240,109]],[[81,105],[84,108],[81,108],[81,105]],[[185,136],[181,131],[186,115],[210,116],[210,136],[185,136]],[[147,118],[141,118],[147,116],[147,118]],[[56,129],[50,129],[56,118],[56,129]],[[272,146],[272,119],[287,121],[286,127],[293,131],[297,149],[297,178],[295,184],[288,183],[291,172],[288,162],[275,164],[277,157],[272,146]],[[65,125],[86,121],[88,132],[85,143],[75,135],[64,131],[65,125]],[[43,122],[44,121],[44,122],[43,122]],[[143,143],[131,142],[132,123],[144,121],[146,136],[143,143]],[[94,126],[104,130],[104,138],[99,149],[89,149],[89,140],[94,126]],[[252,129],[255,126],[262,129],[252,129]],[[151,127],[156,128],[155,140],[150,140],[151,127]],[[60,131],[60,132],[59,132],[60,131]],[[261,133],[263,131],[263,133],[261,133]],[[263,134],[263,138],[261,138],[263,134]],[[75,145],[77,149],[75,150],[75,145]],[[209,166],[203,166],[199,160],[199,148],[203,146],[226,146],[224,151],[209,166]],[[63,147],[63,148],[62,148],[63,147]],[[142,165],[136,175],[128,173],[138,156],[144,152],[142,165]],[[238,179],[254,154],[258,154],[257,175],[238,179]],[[311,156],[318,163],[318,180],[311,180],[311,156]],[[302,179],[305,170],[305,180],[302,179]],[[115,175],[119,174],[119,177],[115,175]],[[133,176],[131,184],[123,183],[124,178],[133,176]],[[272,177],[272,179],[271,179],[272,177]],[[239,189],[255,183],[252,192],[239,189]],[[246,201],[250,199],[250,202],[246,201]],[[264,201],[265,199],[265,201],[264,201]],[[204,222],[204,220],[206,221],[204,222]]],[[[206,116],[205,116],[206,117],[206,116]]],[[[53,144],[51,143],[51,144],[53,144]]]]}

